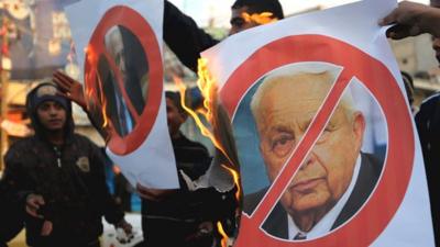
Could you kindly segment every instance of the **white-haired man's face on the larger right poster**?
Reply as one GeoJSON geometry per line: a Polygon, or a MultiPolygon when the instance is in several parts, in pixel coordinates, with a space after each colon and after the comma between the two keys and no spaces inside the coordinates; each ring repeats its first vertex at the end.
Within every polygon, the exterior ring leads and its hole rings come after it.
{"type": "MultiPolygon", "coordinates": [[[[304,137],[331,88],[332,77],[328,72],[299,74],[274,77],[264,83],[270,87],[257,90],[260,99],[253,111],[272,182],[304,137]]],[[[290,215],[328,212],[342,197],[360,155],[364,127],[362,113],[341,100],[282,197],[290,215]]]]}

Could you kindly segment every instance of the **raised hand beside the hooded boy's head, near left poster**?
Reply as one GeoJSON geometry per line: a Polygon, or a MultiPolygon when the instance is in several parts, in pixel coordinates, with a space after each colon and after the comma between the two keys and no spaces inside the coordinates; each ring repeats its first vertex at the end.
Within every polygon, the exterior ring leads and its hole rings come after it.
{"type": "Polygon", "coordinates": [[[63,97],[74,101],[82,109],[87,108],[81,83],[62,71],[53,74],[53,81],[59,87],[63,97]]]}

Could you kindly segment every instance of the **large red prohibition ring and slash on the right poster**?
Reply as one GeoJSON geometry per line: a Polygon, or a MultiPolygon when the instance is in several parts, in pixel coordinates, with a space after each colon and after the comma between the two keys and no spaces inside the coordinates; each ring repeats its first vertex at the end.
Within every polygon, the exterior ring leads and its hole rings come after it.
{"type": "Polygon", "coordinates": [[[369,246],[385,229],[405,197],[415,156],[411,116],[405,98],[385,65],[348,43],[323,35],[297,35],[263,46],[232,74],[221,90],[221,98],[229,114],[233,115],[248,89],[262,76],[280,66],[301,61],[330,63],[341,66],[343,71],[317,113],[308,134],[301,139],[258,206],[251,216],[242,214],[237,247],[369,246]],[[265,63],[261,63],[262,60],[265,63]],[[289,242],[267,235],[261,229],[262,224],[324,128],[339,98],[353,77],[372,92],[386,117],[388,153],[376,189],[355,216],[323,237],[289,242]]]}

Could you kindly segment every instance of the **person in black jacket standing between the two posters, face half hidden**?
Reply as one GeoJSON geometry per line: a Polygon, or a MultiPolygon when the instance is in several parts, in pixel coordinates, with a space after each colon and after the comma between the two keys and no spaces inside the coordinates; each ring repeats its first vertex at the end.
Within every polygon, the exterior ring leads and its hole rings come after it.
{"type": "Polygon", "coordinates": [[[179,94],[167,91],[165,97],[180,189],[138,187],[142,198],[144,245],[210,247],[217,240],[216,223],[233,218],[237,201],[233,193],[220,193],[215,188],[196,191],[187,188],[184,173],[191,180],[198,179],[208,170],[211,157],[204,145],[188,139],[179,131],[187,117],[179,94]]]}

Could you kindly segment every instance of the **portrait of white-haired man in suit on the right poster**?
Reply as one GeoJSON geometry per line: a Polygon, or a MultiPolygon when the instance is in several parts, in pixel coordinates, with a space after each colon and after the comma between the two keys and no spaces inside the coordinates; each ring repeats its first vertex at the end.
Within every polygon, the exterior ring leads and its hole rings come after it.
{"type": "MultiPolygon", "coordinates": [[[[256,89],[251,111],[270,182],[288,161],[326,100],[336,77],[277,70],[256,89]]],[[[383,164],[361,151],[365,117],[344,92],[279,202],[263,224],[275,237],[305,240],[328,234],[350,220],[373,191],[383,164]]],[[[244,198],[249,215],[268,188],[244,198]]]]}

